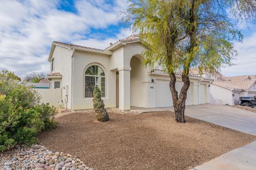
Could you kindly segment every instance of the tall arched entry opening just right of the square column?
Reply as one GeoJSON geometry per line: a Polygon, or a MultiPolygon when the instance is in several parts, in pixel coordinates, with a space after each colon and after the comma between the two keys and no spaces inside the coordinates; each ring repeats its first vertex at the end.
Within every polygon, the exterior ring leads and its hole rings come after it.
{"type": "Polygon", "coordinates": [[[135,55],[131,58],[131,106],[146,107],[146,83],[147,70],[141,64],[141,56],[135,55]]]}

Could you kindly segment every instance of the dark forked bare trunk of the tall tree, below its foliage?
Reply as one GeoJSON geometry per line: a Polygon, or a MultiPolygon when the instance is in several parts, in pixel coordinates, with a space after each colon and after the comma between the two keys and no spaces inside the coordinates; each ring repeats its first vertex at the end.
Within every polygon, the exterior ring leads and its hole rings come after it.
{"type": "Polygon", "coordinates": [[[186,99],[187,99],[187,92],[188,88],[190,86],[190,81],[188,77],[188,72],[187,74],[183,73],[182,77],[182,82],[184,83],[180,95],[178,97],[178,92],[175,88],[175,83],[176,83],[176,77],[175,73],[169,73],[170,76],[170,90],[172,93],[172,100],[173,100],[173,107],[174,107],[174,117],[175,121],[178,123],[185,123],[185,108],[186,108],[186,99]]]}

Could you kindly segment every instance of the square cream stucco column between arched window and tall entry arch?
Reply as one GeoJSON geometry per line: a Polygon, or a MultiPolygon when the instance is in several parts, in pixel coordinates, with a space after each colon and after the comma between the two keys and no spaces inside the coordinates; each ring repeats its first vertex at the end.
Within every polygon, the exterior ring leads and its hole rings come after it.
{"type": "Polygon", "coordinates": [[[130,110],[131,102],[131,67],[120,67],[119,71],[119,109],[130,110]]]}

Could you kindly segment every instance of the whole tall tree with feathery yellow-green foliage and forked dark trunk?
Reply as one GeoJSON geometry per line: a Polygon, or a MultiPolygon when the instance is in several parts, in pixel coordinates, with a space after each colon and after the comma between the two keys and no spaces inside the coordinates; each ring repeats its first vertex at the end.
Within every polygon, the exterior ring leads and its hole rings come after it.
{"type": "Polygon", "coordinates": [[[231,65],[234,41],[242,41],[238,21],[255,21],[255,0],[130,1],[124,20],[139,32],[148,50],[144,63],[169,73],[175,120],[185,123],[189,69],[213,72],[231,65]],[[183,86],[178,94],[175,73],[183,86]]]}

